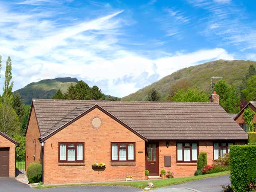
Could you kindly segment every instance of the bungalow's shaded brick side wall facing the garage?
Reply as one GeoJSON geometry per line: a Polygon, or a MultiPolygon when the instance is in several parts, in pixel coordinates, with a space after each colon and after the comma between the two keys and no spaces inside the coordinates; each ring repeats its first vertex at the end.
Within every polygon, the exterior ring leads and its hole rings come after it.
{"type": "Polygon", "coordinates": [[[26,169],[30,163],[40,161],[41,143],[39,142],[38,137],[40,137],[40,132],[36,121],[35,111],[34,108],[32,108],[26,133],[26,169]]]}

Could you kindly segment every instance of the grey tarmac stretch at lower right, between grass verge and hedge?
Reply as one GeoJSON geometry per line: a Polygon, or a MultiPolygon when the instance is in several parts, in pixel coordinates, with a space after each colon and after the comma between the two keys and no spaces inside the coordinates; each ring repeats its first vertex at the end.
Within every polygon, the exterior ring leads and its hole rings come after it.
{"type": "MultiPolygon", "coordinates": [[[[212,177],[202,180],[195,180],[189,183],[167,186],[160,189],[152,190],[151,192],[175,192],[177,188],[191,188],[201,192],[221,192],[221,185],[230,184],[229,175],[221,177],[212,177]],[[175,190],[173,188],[176,188],[175,190]]],[[[186,191],[184,191],[186,192],[186,191]]]]}

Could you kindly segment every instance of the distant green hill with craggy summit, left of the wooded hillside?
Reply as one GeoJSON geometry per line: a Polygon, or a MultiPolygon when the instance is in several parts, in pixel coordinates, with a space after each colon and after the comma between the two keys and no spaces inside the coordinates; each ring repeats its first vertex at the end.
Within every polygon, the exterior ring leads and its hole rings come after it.
{"type": "Polygon", "coordinates": [[[30,105],[32,98],[51,99],[59,88],[62,92],[66,92],[70,84],[76,84],[77,82],[78,80],[76,78],[70,77],[44,79],[35,83],[30,83],[16,91],[20,93],[20,97],[23,99],[24,104],[30,105]]]}

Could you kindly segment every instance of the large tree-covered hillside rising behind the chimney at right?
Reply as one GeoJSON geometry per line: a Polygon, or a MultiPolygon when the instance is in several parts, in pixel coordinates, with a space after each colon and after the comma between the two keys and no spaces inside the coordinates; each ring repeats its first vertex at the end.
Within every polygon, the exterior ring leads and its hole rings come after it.
{"type": "Polygon", "coordinates": [[[123,97],[122,100],[143,101],[151,88],[155,88],[161,94],[161,100],[165,100],[170,94],[170,87],[178,87],[182,84],[189,84],[190,87],[197,86],[210,93],[211,76],[224,76],[228,84],[238,88],[250,64],[256,66],[256,61],[218,60],[187,67],[123,97]]]}

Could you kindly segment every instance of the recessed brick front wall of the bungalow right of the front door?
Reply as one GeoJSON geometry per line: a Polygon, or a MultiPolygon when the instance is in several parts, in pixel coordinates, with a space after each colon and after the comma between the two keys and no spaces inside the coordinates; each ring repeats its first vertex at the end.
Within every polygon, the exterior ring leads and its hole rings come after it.
{"type": "MultiPolygon", "coordinates": [[[[237,145],[244,144],[245,142],[235,142],[237,145]]],[[[202,141],[199,142],[199,153],[207,153],[207,163],[212,164],[213,160],[213,143],[202,141]]],[[[166,147],[166,141],[159,142],[159,174],[162,169],[165,169],[166,172],[168,169],[171,172],[175,172],[174,177],[188,177],[193,176],[196,168],[196,163],[177,163],[177,154],[176,154],[176,141],[169,142],[169,148],[166,147]],[[171,167],[164,166],[164,156],[171,156],[171,167]]]]}

